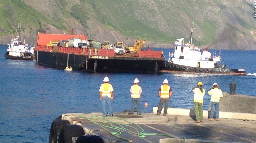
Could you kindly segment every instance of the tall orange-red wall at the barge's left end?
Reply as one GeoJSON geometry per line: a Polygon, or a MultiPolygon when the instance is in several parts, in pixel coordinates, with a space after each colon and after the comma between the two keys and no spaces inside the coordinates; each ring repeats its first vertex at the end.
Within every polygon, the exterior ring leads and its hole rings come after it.
{"type": "Polygon", "coordinates": [[[36,44],[46,46],[50,41],[68,40],[69,38],[82,38],[82,40],[86,40],[86,35],[38,33],[36,44]]]}

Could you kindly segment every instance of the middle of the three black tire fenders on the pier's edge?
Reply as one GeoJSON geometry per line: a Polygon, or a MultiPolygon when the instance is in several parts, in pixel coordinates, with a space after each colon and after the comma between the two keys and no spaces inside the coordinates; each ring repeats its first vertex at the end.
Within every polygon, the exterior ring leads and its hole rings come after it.
{"type": "Polygon", "coordinates": [[[58,143],[72,143],[72,137],[84,135],[83,127],[80,125],[66,125],[61,128],[58,143]]]}

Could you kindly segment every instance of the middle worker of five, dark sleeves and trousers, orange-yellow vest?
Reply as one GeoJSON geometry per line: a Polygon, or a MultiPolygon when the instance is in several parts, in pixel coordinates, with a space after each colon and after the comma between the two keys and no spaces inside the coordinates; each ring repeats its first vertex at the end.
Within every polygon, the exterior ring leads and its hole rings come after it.
{"type": "Polygon", "coordinates": [[[158,90],[158,95],[160,97],[160,102],[158,105],[158,109],[157,109],[157,113],[156,115],[160,115],[163,109],[163,103],[165,103],[165,110],[164,110],[164,116],[166,116],[167,114],[167,110],[168,110],[168,104],[169,104],[169,99],[172,96],[173,92],[171,89],[171,86],[169,86],[169,82],[167,79],[165,79],[163,81],[163,85],[160,86],[159,90],[158,90]]]}

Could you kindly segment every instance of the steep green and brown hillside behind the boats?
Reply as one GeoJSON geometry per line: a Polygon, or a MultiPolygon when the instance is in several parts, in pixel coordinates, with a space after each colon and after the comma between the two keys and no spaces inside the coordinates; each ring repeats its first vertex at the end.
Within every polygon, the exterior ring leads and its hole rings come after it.
{"type": "Polygon", "coordinates": [[[170,43],[183,37],[188,42],[194,21],[193,44],[200,36],[200,45],[226,48],[235,42],[241,49],[256,43],[252,5],[250,0],[0,0],[0,41],[21,22],[26,33],[35,35],[72,28],[98,41],[170,43]]]}

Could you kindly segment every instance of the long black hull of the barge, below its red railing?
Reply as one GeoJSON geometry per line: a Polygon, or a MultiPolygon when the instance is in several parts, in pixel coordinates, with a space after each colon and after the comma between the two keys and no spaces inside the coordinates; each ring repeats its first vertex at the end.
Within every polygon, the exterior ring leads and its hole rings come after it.
{"type": "Polygon", "coordinates": [[[163,58],[140,58],[125,56],[88,56],[60,52],[35,51],[37,64],[64,70],[67,65],[73,70],[91,72],[139,72],[155,73],[161,70],[163,58]]]}

